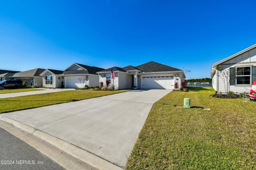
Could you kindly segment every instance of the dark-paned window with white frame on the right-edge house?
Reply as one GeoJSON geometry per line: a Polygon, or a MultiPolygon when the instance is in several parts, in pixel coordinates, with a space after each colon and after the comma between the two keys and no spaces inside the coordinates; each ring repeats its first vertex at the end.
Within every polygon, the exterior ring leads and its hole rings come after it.
{"type": "Polygon", "coordinates": [[[236,67],[236,84],[251,84],[251,67],[236,67]]]}

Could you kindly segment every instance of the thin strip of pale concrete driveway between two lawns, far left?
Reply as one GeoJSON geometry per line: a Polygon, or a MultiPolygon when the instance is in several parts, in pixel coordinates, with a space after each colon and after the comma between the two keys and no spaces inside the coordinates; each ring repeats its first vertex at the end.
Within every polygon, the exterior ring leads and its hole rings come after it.
{"type": "Polygon", "coordinates": [[[47,94],[49,92],[59,92],[59,91],[67,91],[67,90],[75,90],[75,89],[43,89],[38,91],[13,92],[10,94],[0,94],[0,98],[47,94]]]}

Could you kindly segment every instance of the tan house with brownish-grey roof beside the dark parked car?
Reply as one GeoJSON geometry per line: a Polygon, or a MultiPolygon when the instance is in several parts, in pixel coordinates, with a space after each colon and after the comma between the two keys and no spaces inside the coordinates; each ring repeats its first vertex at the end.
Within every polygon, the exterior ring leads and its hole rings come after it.
{"type": "Polygon", "coordinates": [[[22,80],[27,87],[29,87],[31,83],[33,84],[33,87],[41,87],[43,86],[43,80],[40,74],[44,71],[45,69],[39,68],[27,70],[13,74],[12,78],[22,80]]]}

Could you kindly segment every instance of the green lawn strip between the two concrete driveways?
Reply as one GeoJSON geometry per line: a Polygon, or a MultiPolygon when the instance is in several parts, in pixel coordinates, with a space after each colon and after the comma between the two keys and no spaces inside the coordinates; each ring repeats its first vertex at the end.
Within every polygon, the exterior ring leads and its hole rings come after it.
{"type": "Polygon", "coordinates": [[[70,101],[89,99],[94,97],[106,96],[125,92],[128,90],[118,91],[94,91],[94,90],[69,90],[61,92],[51,92],[47,94],[0,98],[0,113],[18,111],[27,108],[42,107],[70,101]]]}

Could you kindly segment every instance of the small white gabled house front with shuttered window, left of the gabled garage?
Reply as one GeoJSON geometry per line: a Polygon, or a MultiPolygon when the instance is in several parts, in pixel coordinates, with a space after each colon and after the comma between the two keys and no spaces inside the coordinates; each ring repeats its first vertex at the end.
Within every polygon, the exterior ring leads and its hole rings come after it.
{"type": "Polygon", "coordinates": [[[43,87],[60,88],[64,77],[61,70],[46,69],[40,74],[43,77],[43,87]]]}

